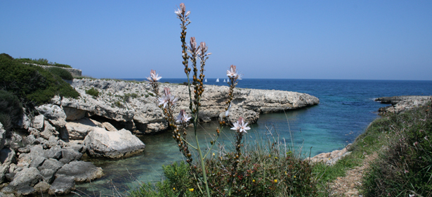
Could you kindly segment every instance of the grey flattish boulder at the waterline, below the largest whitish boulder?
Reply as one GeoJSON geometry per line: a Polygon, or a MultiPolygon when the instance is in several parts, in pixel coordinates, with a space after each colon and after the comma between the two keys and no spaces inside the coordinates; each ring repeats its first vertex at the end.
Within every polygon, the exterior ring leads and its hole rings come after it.
{"type": "Polygon", "coordinates": [[[72,161],[63,165],[57,171],[55,177],[74,177],[76,182],[90,182],[103,176],[103,170],[90,162],[72,161]]]}

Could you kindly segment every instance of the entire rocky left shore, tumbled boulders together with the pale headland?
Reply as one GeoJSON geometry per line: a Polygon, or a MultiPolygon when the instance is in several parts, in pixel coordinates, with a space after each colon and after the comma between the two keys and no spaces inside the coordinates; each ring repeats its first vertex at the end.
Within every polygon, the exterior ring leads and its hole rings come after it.
{"type": "MultiPolygon", "coordinates": [[[[81,160],[124,158],[143,151],[145,144],[134,134],[156,134],[169,129],[154,94],[146,82],[73,80],[79,98],[55,96],[51,104],[24,115],[18,133],[0,130],[1,192],[31,196],[70,193],[76,182],[103,176],[103,169],[81,160]],[[90,89],[97,95],[86,94],[90,89]]],[[[187,109],[188,91],[183,84],[161,84],[178,97],[178,108],[187,109]]],[[[201,122],[216,120],[224,112],[228,87],[204,86],[201,122]]],[[[319,103],[309,94],[292,91],[235,89],[230,120],[258,120],[260,113],[295,110],[319,103]]],[[[176,111],[176,113],[178,113],[176,111]]]]}

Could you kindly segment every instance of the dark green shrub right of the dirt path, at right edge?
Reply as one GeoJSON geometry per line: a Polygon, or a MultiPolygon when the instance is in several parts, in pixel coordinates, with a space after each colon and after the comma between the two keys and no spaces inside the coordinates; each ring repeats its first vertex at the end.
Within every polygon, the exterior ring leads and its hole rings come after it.
{"type": "Polygon", "coordinates": [[[391,140],[364,178],[366,196],[432,196],[431,105],[383,119],[391,140]]]}

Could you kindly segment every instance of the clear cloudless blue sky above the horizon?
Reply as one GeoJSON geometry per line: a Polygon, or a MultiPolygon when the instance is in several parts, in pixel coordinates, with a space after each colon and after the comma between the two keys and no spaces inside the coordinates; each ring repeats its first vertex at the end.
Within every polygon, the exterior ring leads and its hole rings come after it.
{"type": "Polygon", "coordinates": [[[187,39],[207,77],[432,80],[432,1],[1,1],[0,53],[97,78],[183,78],[187,39]]]}

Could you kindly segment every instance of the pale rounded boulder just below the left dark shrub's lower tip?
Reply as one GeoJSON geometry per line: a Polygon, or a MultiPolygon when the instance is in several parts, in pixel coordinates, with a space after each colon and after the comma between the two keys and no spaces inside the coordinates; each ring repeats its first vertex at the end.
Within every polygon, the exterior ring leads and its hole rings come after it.
{"type": "Polygon", "coordinates": [[[45,104],[38,106],[37,110],[56,127],[64,127],[66,125],[66,114],[59,106],[45,104]]]}

